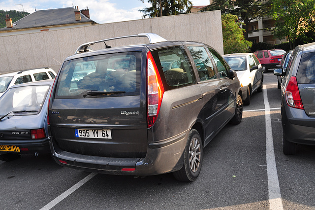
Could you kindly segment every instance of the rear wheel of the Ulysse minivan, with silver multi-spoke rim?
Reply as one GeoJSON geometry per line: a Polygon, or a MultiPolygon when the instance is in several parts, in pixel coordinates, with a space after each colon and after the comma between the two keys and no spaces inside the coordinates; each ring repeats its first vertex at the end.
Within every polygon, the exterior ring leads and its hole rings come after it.
{"type": "Polygon", "coordinates": [[[191,129],[184,151],[184,164],[181,170],[173,173],[179,181],[192,182],[201,171],[203,148],[201,137],[197,130],[191,129]]]}

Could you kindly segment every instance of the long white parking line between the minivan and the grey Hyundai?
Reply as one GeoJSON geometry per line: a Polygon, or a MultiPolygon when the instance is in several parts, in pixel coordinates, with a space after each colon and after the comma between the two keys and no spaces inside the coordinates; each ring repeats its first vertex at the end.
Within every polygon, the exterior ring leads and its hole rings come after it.
{"type": "Polygon", "coordinates": [[[268,193],[269,193],[269,209],[283,210],[280,186],[278,180],[274,143],[271,129],[270,106],[267,97],[267,87],[263,86],[265,119],[266,119],[266,160],[267,160],[267,176],[268,176],[268,193]]]}

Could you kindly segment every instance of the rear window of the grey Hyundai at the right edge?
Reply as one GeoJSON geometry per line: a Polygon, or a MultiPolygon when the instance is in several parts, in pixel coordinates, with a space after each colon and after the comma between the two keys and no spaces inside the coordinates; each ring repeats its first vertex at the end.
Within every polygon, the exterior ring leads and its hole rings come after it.
{"type": "Polygon", "coordinates": [[[302,56],[296,78],[298,83],[315,83],[315,52],[302,56]]]}

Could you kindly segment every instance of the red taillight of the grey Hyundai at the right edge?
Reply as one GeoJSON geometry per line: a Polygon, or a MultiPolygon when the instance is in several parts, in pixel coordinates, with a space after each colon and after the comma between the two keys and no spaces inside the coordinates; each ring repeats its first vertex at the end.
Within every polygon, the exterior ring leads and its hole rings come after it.
{"type": "Polygon", "coordinates": [[[286,86],[285,99],[287,105],[293,108],[304,109],[295,76],[291,76],[289,83],[286,86]]]}

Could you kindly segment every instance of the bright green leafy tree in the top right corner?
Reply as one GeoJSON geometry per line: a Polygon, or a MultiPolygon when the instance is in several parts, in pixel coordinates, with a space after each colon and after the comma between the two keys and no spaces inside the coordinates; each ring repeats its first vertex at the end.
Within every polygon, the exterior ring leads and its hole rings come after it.
{"type": "Polygon", "coordinates": [[[290,48],[295,48],[297,39],[311,41],[307,33],[315,27],[315,0],[273,0],[274,35],[287,37],[290,48]]]}

